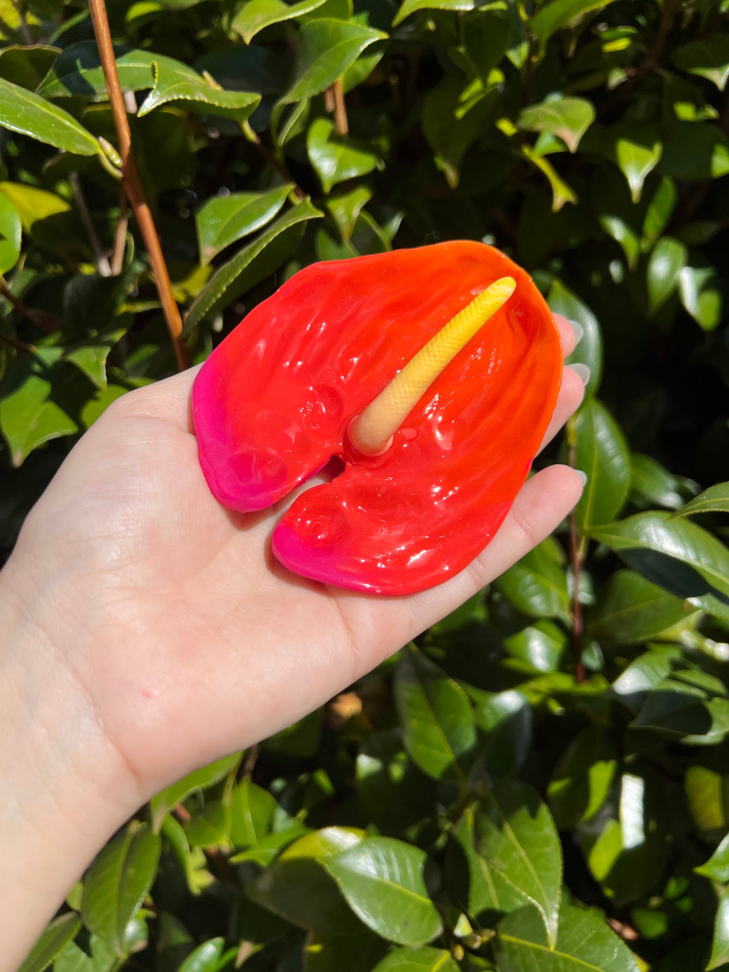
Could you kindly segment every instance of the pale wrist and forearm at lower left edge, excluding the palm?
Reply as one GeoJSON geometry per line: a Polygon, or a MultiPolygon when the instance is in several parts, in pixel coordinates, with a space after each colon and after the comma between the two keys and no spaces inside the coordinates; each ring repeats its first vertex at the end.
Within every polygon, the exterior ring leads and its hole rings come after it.
{"type": "Polygon", "coordinates": [[[0,972],[142,802],[60,643],[62,618],[27,597],[32,586],[11,558],[0,573],[0,972]]]}

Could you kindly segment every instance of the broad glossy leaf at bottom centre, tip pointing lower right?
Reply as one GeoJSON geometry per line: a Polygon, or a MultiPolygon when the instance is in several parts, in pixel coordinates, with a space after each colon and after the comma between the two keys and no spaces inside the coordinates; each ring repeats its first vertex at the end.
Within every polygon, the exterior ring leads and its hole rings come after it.
{"type": "Polygon", "coordinates": [[[426,883],[434,865],[420,848],[371,837],[325,863],[350,908],[383,938],[414,947],[442,931],[426,883]]]}

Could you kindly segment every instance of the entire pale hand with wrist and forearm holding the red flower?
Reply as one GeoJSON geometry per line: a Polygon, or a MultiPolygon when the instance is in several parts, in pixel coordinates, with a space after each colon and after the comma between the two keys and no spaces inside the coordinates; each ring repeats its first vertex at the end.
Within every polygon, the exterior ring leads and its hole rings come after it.
{"type": "MultiPolygon", "coordinates": [[[[575,332],[556,320],[569,355],[575,332]]],[[[523,557],[582,490],[573,469],[538,472],[483,553],[431,590],[325,587],[272,557],[293,497],[249,515],[213,499],[191,429],[195,372],[107,410],[0,573],[0,972],[158,790],[364,676],[523,557]]],[[[583,378],[583,365],[565,368],[545,441],[583,378]]]]}

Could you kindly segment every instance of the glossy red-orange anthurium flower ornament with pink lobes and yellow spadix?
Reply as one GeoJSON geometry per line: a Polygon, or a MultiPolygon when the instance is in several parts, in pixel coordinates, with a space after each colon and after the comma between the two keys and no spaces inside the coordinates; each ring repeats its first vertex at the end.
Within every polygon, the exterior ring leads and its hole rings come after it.
{"type": "Polygon", "coordinates": [[[494,537],[554,411],[562,345],[529,275],[482,243],[315,263],[255,307],[192,390],[200,464],[231,509],[322,469],[273,532],[295,573],[410,594],[494,537]]]}

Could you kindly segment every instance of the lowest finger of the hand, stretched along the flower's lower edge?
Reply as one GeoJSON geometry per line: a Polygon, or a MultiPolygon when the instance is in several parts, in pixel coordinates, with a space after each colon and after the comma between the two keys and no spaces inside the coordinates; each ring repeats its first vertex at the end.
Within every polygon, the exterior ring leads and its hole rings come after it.
{"type": "Polygon", "coordinates": [[[559,526],[581,493],[582,480],[574,469],[542,469],[524,484],[486,549],[465,571],[428,591],[407,598],[382,598],[332,588],[330,594],[350,630],[363,633],[366,646],[358,666],[363,671],[371,668],[511,567],[559,526]]]}

